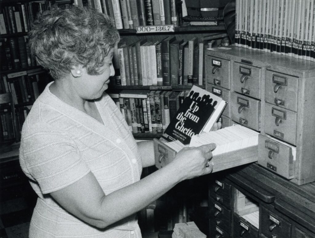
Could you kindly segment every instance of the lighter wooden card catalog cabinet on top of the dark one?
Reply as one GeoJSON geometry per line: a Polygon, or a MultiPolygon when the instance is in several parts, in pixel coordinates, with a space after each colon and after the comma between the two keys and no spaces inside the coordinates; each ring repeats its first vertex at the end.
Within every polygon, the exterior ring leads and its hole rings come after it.
{"type": "Polygon", "coordinates": [[[260,132],[259,165],[315,181],[315,62],[234,46],[206,54],[206,90],[228,102],[222,127],[260,132]]]}

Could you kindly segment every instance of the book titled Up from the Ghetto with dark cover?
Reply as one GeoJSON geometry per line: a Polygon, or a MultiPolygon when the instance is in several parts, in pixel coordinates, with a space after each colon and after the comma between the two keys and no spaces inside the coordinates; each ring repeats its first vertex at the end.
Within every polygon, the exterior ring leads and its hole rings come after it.
{"type": "Polygon", "coordinates": [[[162,138],[189,144],[193,135],[210,131],[226,104],[220,97],[193,85],[162,138]]]}

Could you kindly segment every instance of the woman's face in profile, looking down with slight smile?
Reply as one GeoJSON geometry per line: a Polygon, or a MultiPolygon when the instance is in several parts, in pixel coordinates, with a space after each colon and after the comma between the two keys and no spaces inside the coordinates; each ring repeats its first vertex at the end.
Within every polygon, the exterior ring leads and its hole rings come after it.
{"type": "Polygon", "coordinates": [[[78,87],[77,92],[82,99],[98,99],[108,88],[109,77],[115,75],[112,65],[113,54],[114,49],[111,49],[104,58],[104,64],[100,67],[100,75],[89,75],[84,69],[84,76],[78,78],[79,82],[75,86],[78,87]]]}

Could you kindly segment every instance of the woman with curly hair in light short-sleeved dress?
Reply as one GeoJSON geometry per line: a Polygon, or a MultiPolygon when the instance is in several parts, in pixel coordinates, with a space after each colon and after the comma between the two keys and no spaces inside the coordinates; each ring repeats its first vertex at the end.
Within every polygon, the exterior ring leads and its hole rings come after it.
{"type": "Polygon", "coordinates": [[[154,164],[152,141],[136,144],[112,99],[119,34],[94,9],[53,7],[29,35],[37,61],[54,78],[23,125],[20,165],[38,195],[29,237],[141,237],[135,213],[182,180],[210,173],[214,144],[154,164]]]}

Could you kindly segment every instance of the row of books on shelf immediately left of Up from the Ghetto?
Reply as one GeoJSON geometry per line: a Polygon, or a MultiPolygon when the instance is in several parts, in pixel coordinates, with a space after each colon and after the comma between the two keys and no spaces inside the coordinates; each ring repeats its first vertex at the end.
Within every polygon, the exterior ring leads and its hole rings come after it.
{"type": "Polygon", "coordinates": [[[123,89],[108,93],[133,133],[163,133],[188,91],[123,89]]]}

